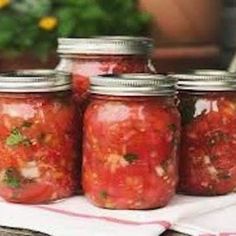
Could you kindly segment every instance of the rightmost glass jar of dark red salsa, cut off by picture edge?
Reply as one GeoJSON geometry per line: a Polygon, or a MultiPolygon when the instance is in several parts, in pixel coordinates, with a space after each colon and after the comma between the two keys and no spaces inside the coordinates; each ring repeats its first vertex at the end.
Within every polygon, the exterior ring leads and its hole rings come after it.
{"type": "Polygon", "coordinates": [[[220,195],[236,189],[236,77],[220,71],[176,75],[182,142],[179,190],[220,195]]]}

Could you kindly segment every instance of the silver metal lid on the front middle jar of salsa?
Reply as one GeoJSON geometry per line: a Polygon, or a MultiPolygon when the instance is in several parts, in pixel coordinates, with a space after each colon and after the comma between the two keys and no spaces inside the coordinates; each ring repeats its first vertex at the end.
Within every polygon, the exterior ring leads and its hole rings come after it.
{"type": "Polygon", "coordinates": [[[94,76],[92,94],[111,96],[173,96],[176,79],[160,74],[123,74],[94,76]]]}

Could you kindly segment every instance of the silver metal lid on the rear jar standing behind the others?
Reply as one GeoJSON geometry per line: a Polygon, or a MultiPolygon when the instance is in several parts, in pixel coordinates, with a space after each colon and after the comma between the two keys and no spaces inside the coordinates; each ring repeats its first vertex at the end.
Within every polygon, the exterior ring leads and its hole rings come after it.
{"type": "Polygon", "coordinates": [[[153,47],[153,40],[145,37],[59,38],[57,52],[69,55],[148,55],[153,47]]]}

